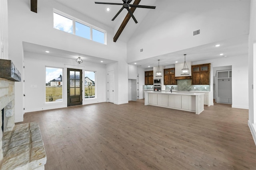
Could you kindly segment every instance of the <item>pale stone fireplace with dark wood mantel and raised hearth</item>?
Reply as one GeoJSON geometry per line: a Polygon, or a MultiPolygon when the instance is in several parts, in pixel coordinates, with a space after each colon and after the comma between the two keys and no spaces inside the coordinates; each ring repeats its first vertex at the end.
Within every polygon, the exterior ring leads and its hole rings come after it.
{"type": "Polygon", "coordinates": [[[15,125],[15,82],[20,72],[12,61],[0,59],[0,170],[44,170],[46,152],[37,122],[15,125]]]}

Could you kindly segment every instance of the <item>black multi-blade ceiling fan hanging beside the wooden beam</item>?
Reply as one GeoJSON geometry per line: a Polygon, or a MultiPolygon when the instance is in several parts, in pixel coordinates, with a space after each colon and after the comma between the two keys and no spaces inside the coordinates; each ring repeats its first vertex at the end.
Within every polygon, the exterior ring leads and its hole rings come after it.
{"type": "Polygon", "coordinates": [[[116,19],[116,17],[122,12],[122,10],[125,8],[135,23],[138,23],[136,18],[133,15],[133,12],[130,10],[130,7],[136,7],[136,8],[149,8],[149,9],[155,9],[155,6],[146,6],[146,5],[137,5],[137,4],[130,4],[132,0],[122,0],[123,3],[112,3],[112,2],[95,2],[95,4],[109,4],[109,5],[122,5],[122,8],[118,11],[118,13],[114,16],[112,21],[116,19]]]}

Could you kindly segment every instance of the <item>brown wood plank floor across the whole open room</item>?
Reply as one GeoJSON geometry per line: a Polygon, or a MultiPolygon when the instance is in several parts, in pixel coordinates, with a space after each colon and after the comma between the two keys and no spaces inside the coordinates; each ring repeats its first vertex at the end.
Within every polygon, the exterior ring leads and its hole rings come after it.
{"type": "Polygon", "coordinates": [[[248,110],[204,109],[98,103],[26,113],[22,123],[40,125],[45,170],[255,170],[248,110]]]}

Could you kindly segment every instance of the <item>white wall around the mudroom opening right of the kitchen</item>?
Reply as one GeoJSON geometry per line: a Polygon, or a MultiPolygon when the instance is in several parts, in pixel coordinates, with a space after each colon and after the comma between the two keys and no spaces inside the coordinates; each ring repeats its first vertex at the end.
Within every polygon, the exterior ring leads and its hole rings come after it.
{"type": "MultiPolygon", "coordinates": [[[[213,82],[213,69],[220,66],[232,66],[232,107],[248,109],[248,56],[222,57],[219,59],[193,62],[195,64],[211,63],[210,82],[213,82]],[[244,91],[244,93],[243,93],[244,91]]],[[[210,84],[211,98],[213,99],[213,84],[210,84]]],[[[212,101],[211,99],[211,101],[212,101]]]]}

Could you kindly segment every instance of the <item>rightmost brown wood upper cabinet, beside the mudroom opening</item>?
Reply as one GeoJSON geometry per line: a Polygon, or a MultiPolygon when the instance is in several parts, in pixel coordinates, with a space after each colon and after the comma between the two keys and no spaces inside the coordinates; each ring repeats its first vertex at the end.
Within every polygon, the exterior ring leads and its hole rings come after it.
{"type": "Polygon", "coordinates": [[[211,64],[198,64],[191,66],[192,85],[210,84],[210,66],[211,64]]]}

